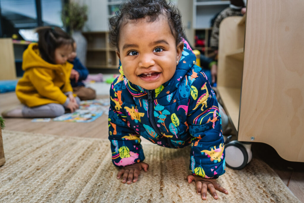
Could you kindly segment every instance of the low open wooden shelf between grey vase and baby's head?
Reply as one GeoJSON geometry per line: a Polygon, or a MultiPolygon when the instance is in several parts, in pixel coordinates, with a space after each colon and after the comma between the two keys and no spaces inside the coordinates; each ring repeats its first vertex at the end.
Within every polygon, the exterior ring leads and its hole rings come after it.
{"type": "Polygon", "coordinates": [[[87,68],[113,68],[117,69],[119,59],[115,49],[109,46],[108,32],[84,32],[88,41],[87,68]]]}

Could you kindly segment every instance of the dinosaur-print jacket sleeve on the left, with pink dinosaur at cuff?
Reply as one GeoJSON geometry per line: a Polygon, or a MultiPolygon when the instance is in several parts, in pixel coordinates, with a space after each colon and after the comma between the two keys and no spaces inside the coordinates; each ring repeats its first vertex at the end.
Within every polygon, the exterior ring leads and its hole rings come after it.
{"type": "MultiPolygon", "coordinates": [[[[113,83],[112,83],[113,85],[113,83]]],[[[145,159],[138,134],[126,120],[123,102],[110,89],[109,140],[111,142],[112,162],[114,166],[127,166],[145,159]]]]}

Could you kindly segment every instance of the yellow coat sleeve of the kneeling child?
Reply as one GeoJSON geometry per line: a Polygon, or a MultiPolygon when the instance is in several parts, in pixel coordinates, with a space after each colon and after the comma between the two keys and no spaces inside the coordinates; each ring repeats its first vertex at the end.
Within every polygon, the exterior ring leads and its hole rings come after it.
{"type": "Polygon", "coordinates": [[[58,86],[54,85],[52,81],[52,75],[54,73],[51,69],[32,68],[29,71],[32,72],[29,74],[29,79],[40,95],[64,104],[67,96],[64,95],[58,86]]]}

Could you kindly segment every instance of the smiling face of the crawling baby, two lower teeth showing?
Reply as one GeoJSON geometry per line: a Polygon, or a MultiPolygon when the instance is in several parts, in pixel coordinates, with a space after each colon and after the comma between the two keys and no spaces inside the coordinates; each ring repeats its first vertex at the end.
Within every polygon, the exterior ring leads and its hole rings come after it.
{"type": "Polygon", "coordinates": [[[168,21],[132,20],[121,27],[117,55],[126,78],[144,89],[156,89],[174,75],[184,44],[176,46],[168,21]]]}

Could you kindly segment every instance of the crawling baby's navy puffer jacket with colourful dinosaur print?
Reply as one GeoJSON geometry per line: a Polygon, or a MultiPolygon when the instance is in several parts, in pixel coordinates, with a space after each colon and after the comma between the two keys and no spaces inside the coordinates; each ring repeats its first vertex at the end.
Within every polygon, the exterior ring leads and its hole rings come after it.
{"type": "Polygon", "coordinates": [[[225,173],[224,139],[215,93],[195,55],[186,47],[174,76],[154,90],[120,75],[110,89],[109,140],[112,162],[127,166],[145,159],[140,136],[169,148],[191,145],[193,174],[218,178],[225,173]]]}

